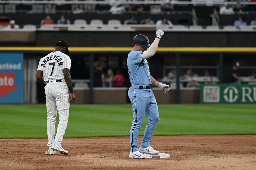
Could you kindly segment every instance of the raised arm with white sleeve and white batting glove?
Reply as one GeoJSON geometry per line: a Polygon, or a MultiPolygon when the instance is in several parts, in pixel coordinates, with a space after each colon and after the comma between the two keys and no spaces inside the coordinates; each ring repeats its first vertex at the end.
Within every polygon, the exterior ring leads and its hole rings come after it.
{"type": "Polygon", "coordinates": [[[142,59],[147,59],[149,57],[152,57],[156,53],[158,44],[160,42],[160,38],[162,38],[163,35],[164,35],[164,31],[162,31],[161,29],[156,31],[156,38],[154,42],[151,44],[151,46],[148,48],[148,50],[143,52],[142,59]]]}

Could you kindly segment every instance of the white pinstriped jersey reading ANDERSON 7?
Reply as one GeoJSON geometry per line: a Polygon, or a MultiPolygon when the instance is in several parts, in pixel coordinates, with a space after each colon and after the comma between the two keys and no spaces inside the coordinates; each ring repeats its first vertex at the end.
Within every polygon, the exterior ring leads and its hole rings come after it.
{"type": "Polygon", "coordinates": [[[38,70],[43,71],[44,81],[63,80],[63,69],[68,68],[70,71],[71,59],[68,55],[55,51],[41,58],[38,64],[38,70]]]}

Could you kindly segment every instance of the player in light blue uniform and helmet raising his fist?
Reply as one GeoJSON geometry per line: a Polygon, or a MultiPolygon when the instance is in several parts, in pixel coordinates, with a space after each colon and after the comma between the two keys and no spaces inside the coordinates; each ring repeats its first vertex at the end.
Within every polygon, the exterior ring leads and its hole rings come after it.
{"type": "Polygon", "coordinates": [[[164,31],[161,29],[157,30],[156,38],[151,45],[149,44],[147,36],[141,34],[136,35],[133,38],[133,49],[128,54],[127,66],[131,82],[128,95],[132,103],[133,111],[133,122],[130,131],[131,151],[129,158],[145,158],[141,153],[159,153],[159,151],[156,151],[150,146],[150,140],[159,121],[158,106],[151,86],[157,86],[165,92],[169,91],[170,88],[168,85],[156,81],[150,75],[147,58],[152,57],[156,53],[160,38],[163,35],[164,31]],[[140,148],[138,148],[138,136],[144,121],[145,112],[148,116],[148,124],[145,128],[140,148]]]}

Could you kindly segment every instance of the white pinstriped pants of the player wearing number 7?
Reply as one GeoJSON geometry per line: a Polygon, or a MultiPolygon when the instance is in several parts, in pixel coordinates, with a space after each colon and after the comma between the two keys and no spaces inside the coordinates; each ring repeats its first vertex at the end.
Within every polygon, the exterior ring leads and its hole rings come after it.
{"type": "Polygon", "coordinates": [[[64,82],[49,82],[45,86],[46,107],[47,107],[47,135],[48,146],[52,144],[61,145],[65,130],[68,125],[69,115],[69,94],[68,87],[64,82]],[[59,124],[55,136],[55,123],[59,111],[59,124]]]}

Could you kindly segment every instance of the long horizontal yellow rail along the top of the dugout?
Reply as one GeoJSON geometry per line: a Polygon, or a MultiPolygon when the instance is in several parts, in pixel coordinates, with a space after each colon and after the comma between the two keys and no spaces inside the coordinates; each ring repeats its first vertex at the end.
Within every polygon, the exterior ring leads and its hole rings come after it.
{"type": "MultiPolygon", "coordinates": [[[[70,52],[129,52],[132,47],[68,47],[70,52]]],[[[0,51],[53,51],[54,47],[0,47],[0,51]]],[[[159,47],[159,52],[256,52],[254,47],[159,47]]]]}

